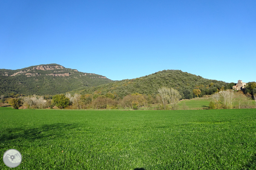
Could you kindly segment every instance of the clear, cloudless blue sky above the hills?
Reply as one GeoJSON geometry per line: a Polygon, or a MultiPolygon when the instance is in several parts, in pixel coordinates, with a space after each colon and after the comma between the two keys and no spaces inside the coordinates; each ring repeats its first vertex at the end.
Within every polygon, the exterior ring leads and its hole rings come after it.
{"type": "Polygon", "coordinates": [[[255,0],[0,0],[0,69],[256,81],[255,0]]]}

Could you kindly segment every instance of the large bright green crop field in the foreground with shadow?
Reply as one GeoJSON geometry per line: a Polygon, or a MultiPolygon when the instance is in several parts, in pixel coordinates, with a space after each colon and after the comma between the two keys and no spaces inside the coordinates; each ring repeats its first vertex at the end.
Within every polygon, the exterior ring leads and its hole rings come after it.
{"type": "Polygon", "coordinates": [[[19,150],[20,169],[256,168],[256,109],[0,108],[0,120],[0,153],[19,150]]]}

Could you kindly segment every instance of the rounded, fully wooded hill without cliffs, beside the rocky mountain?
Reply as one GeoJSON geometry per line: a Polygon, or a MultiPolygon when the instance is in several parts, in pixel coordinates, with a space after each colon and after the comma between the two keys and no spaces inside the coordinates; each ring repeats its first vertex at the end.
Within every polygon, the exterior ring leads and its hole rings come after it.
{"type": "Polygon", "coordinates": [[[225,89],[232,88],[233,84],[234,83],[209,80],[201,76],[182,72],[181,70],[163,70],[140,78],[115,81],[97,87],[82,87],[79,93],[98,93],[102,95],[113,93],[120,98],[132,93],[155,96],[158,93],[158,88],[166,86],[178,90],[182,98],[192,98],[195,97],[193,94],[194,89],[199,89],[201,91],[199,96],[210,95],[217,92],[218,89],[220,90],[221,87],[224,87],[225,89]]]}

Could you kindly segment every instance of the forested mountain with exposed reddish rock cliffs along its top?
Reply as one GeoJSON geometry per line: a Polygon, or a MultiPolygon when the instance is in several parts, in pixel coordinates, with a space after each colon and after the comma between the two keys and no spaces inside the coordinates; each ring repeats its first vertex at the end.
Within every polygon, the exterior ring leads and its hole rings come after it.
{"type": "Polygon", "coordinates": [[[58,64],[35,65],[18,70],[0,69],[0,94],[55,95],[113,82],[102,75],[78,72],[58,64]]]}

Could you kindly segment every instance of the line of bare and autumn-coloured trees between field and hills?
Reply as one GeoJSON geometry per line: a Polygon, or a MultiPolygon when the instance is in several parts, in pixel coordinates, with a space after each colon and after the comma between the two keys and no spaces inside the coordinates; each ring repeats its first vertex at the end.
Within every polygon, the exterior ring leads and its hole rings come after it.
{"type": "MultiPolygon", "coordinates": [[[[213,86],[213,83],[209,87],[213,86]]],[[[203,85],[199,85],[193,89],[185,91],[183,95],[174,89],[169,87],[158,88],[156,95],[132,93],[120,98],[113,93],[101,93],[94,92],[93,94],[71,93],[58,94],[54,96],[39,96],[39,95],[15,95],[9,94],[8,98],[5,95],[1,95],[0,101],[9,103],[13,108],[53,108],[57,106],[60,109],[130,109],[130,110],[176,110],[178,109],[178,102],[186,96],[192,98],[193,96],[200,97],[204,89],[203,85]]],[[[256,102],[256,83],[249,82],[242,90],[233,91],[231,89],[225,90],[225,87],[221,87],[213,93],[212,101],[209,103],[210,109],[231,109],[234,108],[237,103],[237,108],[245,108],[242,104],[247,100],[247,106],[249,106],[249,100],[253,98],[256,102]]],[[[255,105],[256,107],[256,105],[255,105]]]]}

